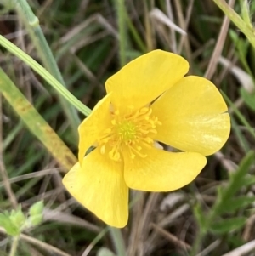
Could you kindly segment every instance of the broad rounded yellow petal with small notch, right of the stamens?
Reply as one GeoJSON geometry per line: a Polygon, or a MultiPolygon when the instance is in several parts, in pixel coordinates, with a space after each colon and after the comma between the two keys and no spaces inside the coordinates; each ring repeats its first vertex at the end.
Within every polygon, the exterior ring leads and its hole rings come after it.
{"type": "Polygon", "coordinates": [[[229,138],[230,118],[218,89],[202,77],[184,77],[152,105],[162,125],[156,140],[204,156],[229,138]]]}

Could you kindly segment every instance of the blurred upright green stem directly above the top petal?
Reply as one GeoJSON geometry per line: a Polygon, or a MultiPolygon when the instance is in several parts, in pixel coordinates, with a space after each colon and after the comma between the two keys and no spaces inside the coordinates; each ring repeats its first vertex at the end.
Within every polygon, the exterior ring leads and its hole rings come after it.
{"type": "Polygon", "coordinates": [[[126,51],[127,51],[127,31],[126,31],[126,10],[124,0],[115,0],[117,10],[117,21],[119,28],[119,47],[120,47],[120,64],[124,66],[127,64],[126,51]]]}

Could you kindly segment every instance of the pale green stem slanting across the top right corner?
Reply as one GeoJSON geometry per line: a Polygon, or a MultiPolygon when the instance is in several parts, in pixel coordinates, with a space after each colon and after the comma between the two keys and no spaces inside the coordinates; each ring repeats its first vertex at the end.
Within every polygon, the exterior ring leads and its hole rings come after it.
{"type": "Polygon", "coordinates": [[[255,48],[255,34],[252,26],[246,23],[245,20],[241,19],[241,16],[235,13],[235,10],[229,7],[229,4],[224,0],[213,0],[214,3],[218,5],[218,8],[221,9],[225,15],[229,17],[235,26],[237,26],[247,37],[249,42],[255,48]]]}

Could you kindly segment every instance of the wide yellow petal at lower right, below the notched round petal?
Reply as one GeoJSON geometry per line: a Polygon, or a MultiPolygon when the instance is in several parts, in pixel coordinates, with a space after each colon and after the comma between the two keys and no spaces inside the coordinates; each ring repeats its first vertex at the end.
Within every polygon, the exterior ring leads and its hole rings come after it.
{"type": "Polygon", "coordinates": [[[125,181],[135,190],[177,190],[195,179],[207,163],[205,156],[193,152],[173,153],[156,148],[146,151],[147,157],[125,162],[125,181]]]}

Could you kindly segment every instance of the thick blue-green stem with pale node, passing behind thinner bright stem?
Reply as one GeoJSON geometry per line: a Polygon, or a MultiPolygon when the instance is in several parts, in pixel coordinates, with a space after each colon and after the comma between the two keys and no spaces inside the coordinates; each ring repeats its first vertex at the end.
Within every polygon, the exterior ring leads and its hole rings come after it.
{"type": "MultiPolygon", "coordinates": [[[[30,26],[28,31],[31,32],[31,39],[37,48],[38,54],[41,55],[43,64],[46,66],[47,70],[66,88],[65,81],[59,72],[58,65],[56,64],[54,55],[48,46],[46,38],[44,37],[37,16],[32,12],[31,7],[26,0],[16,0],[15,5],[20,16],[24,18],[25,23],[28,21],[30,26]]],[[[59,97],[59,100],[71,123],[71,128],[73,129],[74,134],[77,134],[77,126],[80,123],[77,111],[72,105],[67,104],[62,97],[59,97]]]]}

